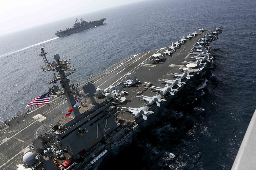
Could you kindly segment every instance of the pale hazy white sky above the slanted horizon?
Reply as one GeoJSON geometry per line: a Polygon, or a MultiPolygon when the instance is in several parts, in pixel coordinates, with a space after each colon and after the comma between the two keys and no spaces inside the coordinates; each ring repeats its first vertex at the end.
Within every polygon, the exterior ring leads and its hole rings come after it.
{"type": "Polygon", "coordinates": [[[0,35],[105,8],[143,0],[3,0],[0,35]]]}

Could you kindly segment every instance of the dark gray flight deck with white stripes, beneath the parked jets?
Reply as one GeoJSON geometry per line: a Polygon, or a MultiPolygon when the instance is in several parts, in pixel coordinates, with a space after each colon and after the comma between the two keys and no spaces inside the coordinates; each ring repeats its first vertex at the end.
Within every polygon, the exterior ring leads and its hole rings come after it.
{"type": "MultiPolygon", "coordinates": [[[[128,92],[125,94],[126,101],[119,105],[122,107],[134,107],[139,108],[142,107],[145,101],[140,100],[140,98],[136,97],[137,92],[142,91],[145,86],[142,86],[144,82],[152,82],[152,86],[156,87],[165,87],[166,85],[163,82],[158,80],[160,79],[169,79],[175,80],[176,77],[168,75],[170,73],[184,73],[179,68],[186,65],[186,63],[182,63],[185,60],[189,59],[189,52],[194,47],[194,44],[201,39],[204,35],[207,35],[211,31],[203,31],[199,32],[197,36],[193,36],[189,41],[185,41],[182,43],[179,48],[176,49],[176,52],[169,55],[165,55],[164,59],[161,61],[152,61],[152,55],[162,53],[166,50],[166,48],[160,48],[156,50],[151,50],[148,52],[142,52],[139,54],[131,55],[128,58],[116,63],[110,68],[106,69],[102,73],[85,80],[78,84],[78,90],[82,93],[82,86],[87,84],[88,82],[93,82],[96,88],[106,89],[113,88],[120,84],[121,82],[125,82],[127,77],[137,77],[137,79],[141,82],[136,82],[130,87],[123,87],[123,89],[128,92]]],[[[208,41],[208,43],[210,43],[208,41]]],[[[52,57],[53,54],[48,54],[49,57],[52,57]]],[[[61,56],[65,57],[65,56],[61,56]]],[[[200,74],[192,73],[192,75],[200,76],[200,74]]],[[[189,83],[189,80],[184,78],[182,81],[189,83]]],[[[186,84],[182,84],[180,88],[185,86],[186,84]]],[[[177,91],[178,92],[178,91],[177,91]]],[[[153,90],[146,89],[142,92],[141,95],[144,96],[155,96],[157,93],[153,90]]],[[[36,94],[38,95],[38,94],[36,94]]],[[[165,96],[164,98],[172,97],[172,95],[165,96]]],[[[63,95],[63,98],[66,98],[63,95]]],[[[105,99],[105,95],[103,94],[100,99],[95,97],[96,101],[100,101],[105,99]]],[[[29,101],[24,101],[29,102],[29,101]]],[[[25,106],[24,106],[25,107],[25,106]]],[[[83,99],[83,104],[80,105],[79,111],[82,113],[90,108],[93,105],[87,102],[87,99],[83,99]]],[[[148,110],[154,110],[153,108],[156,105],[148,106],[148,110]]],[[[29,111],[23,111],[19,116],[9,120],[6,123],[3,123],[0,126],[0,169],[16,169],[16,165],[22,163],[22,156],[26,152],[31,152],[32,148],[30,147],[31,140],[34,137],[36,129],[42,124],[46,124],[47,127],[56,124],[56,120],[69,121],[73,119],[73,116],[64,117],[66,111],[69,110],[69,106],[65,99],[54,97],[50,99],[49,106],[48,105],[39,105],[33,107],[29,111]],[[64,113],[65,112],[65,113],[64,113]]],[[[150,119],[150,115],[148,116],[150,119]]],[[[139,119],[142,119],[140,116],[139,119]]],[[[125,111],[122,109],[116,120],[119,121],[121,126],[123,124],[131,124],[133,121],[138,121],[135,117],[131,116],[131,112],[125,111]]],[[[65,122],[63,122],[65,124],[65,122]]],[[[67,159],[67,158],[66,158],[67,159]]],[[[64,160],[59,160],[64,161],[64,160]]]]}

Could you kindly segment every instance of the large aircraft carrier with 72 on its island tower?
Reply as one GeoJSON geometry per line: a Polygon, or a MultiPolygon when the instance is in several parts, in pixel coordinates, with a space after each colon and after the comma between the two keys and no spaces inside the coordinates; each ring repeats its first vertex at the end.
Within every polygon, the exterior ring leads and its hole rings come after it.
{"type": "MultiPolygon", "coordinates": [[[[168,74],[187,72],[180,68],[185,68],[183,61],[191,57],[189,53],[195,44],[206,42],[210,50],[209,44],[218,39],[221,30],[201,30],[198,35],[182,42],[170,55],[164,55],[168,53],[170,45],[131,55],[79,84],[67,78],[76,70],[70,66],[71,61],[60,59],[65,56],[55,54],[55,61],[49,62],[49,56],[53,54],[49,55],[41,48],[39,56],[43,57],[45,63],[43,71],[55,72],[48,82],[54,84],[49,89],[53,97],[49,105],[23,111],[0,126],[0,169],[91,169],[94,163],[108,155],[108,151],[123,145],[139,128],[140,121],[150,119],[150,113],[157,108],[156,103],[161,103],[155,101],[152,104],[136,97],[157,94],[156,90],[146,89],[144,85],[152,82],[153,86],[166,87],[158,80],[175,80],[176,77],[168,74]],[[153,61],[158,54],[164,58],[153,61]],[[56,82],[59,82],[59,86],[56,82]],[[117,87],[119,90],[116,90],[117,87]],[[114,90],[118,95],[113,93],[114,90]],[[76,103],[79,98],[82,100],[76,103]],[[73,107],[74,104],[78,105],[73,107]],[[127,110],[130,107],[141,109],[131,113],[127,110]],[[71,116],[65,116],[69,109],[74,109],[71,116]]],[[[197,61],[201,63],[202,60],[197,61]]],[[[200,65],[199,68],[202,65],[204,68],[213,66],[212,62],[200,65]]],[[[200,72],[196,72],[195,69],[195,73],[191,71],[190,76],[188,72],[187,77],[178,76],[183,83],[179,86],[173,84],[173,89],[166,90],[167,93],[160,91],[162,101],[168,102],[186,86],[185,83],[189,83],[190,78],[200,76],[200,72]]],[[[151,88],[152,85],[148,84],[151,88]]]]}

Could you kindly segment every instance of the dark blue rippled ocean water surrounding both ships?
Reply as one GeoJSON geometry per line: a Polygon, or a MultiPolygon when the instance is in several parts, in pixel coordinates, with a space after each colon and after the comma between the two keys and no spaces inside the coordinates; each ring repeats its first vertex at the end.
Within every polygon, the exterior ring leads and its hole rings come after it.
{"type": "Polygon", "coordinates": [[[164,47],[198,28],[223,26],[212,42],[214,69],[191,79],[170,103],[140,125],[133,138],[94,168],[230,169],[256,106],[256,4],[253,0],[144,1],[77,16],[105,24],[67,37],[56,30],[75,18],[0,36],[0,121],[47,92],[40,47],[59,53],[81,82],[129,57],[164,47]]]}

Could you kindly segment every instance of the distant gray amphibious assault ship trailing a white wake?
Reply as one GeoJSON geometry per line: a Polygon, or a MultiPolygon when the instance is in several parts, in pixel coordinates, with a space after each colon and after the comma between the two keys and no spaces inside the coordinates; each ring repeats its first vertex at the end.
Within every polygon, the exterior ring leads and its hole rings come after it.
{"type": "Polygon", "coordinates": [[[64,37],[66,35],[70,35],[79,31],[83,31],[85,29],[89,29],[98,25],[102,25],[103,22],[106,20],[107,18],[102,18],[100,20],[96,20],[96,21],[90,21],[90,22],[86,22],[84,21],[82,18],[80,20],[75,20],[75,24],[73,25],[72,28],[66,28],[66,30],[62,31],[59,30],[57,31],[57,33],[55,33],[55,35],[57,35],[58,37],[64,37]],[[80,22],[78,22],[80,21],[80,22]]]}

